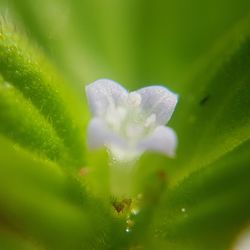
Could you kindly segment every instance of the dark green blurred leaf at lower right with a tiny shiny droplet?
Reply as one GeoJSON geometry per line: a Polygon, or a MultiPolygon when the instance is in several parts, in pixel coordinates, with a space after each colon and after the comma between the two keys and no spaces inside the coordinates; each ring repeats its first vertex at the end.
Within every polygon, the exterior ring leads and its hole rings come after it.
{"type": "Polygon", "coordinates": [[[250,221],[249,150],[248,140],[167,190],[155,212],[155,241],[164,238],[173,249],[230,249],[250,221]]]}

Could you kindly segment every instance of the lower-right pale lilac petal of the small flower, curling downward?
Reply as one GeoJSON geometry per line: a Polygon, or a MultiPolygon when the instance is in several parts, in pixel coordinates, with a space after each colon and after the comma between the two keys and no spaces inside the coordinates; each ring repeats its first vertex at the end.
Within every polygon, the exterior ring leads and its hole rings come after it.
{"type": "Polygon", "coordinates": [[[177,136],[173,129],[159,126],[149,137],[143,139],[138,147],[142,150],[161,152],[167,156],[174,157],[177,141],[177,136]]]}

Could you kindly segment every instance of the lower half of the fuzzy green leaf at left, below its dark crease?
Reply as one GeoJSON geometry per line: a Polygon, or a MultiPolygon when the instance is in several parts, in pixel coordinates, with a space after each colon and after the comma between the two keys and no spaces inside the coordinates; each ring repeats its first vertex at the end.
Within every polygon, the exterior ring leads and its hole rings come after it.
{"type": "Polygon", "coordinates": [[[40,156],[66,160],[67,150],[51,124],[7,82],[0,83],[0,132],[40,156]]]}

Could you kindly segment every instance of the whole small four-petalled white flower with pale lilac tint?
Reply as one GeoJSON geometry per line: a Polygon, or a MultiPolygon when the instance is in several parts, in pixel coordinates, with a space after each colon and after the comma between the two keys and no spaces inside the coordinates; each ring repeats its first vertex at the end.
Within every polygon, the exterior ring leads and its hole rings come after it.
{"type": "Polygon", "coordinates": [[[93,114],[88,145],[105,145],[115,159],[131,161],[144,151],[174,157],[177,136],[164,126],[172,116],[178,96],[162,86],[128,92],[118,83],[100,79],[86,87],[93,114]]]}

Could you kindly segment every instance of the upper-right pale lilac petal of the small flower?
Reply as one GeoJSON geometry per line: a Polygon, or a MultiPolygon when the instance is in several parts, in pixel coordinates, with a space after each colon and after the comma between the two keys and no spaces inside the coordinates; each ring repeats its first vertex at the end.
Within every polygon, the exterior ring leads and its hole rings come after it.
{"type": "Polygon", "coordinates": [[[136,91],[142,97],[141,107],[147,116],[156,115],[156,124],[165,125],[171,118],[178,95],[163,86],[150,86],[136,91]]]}

